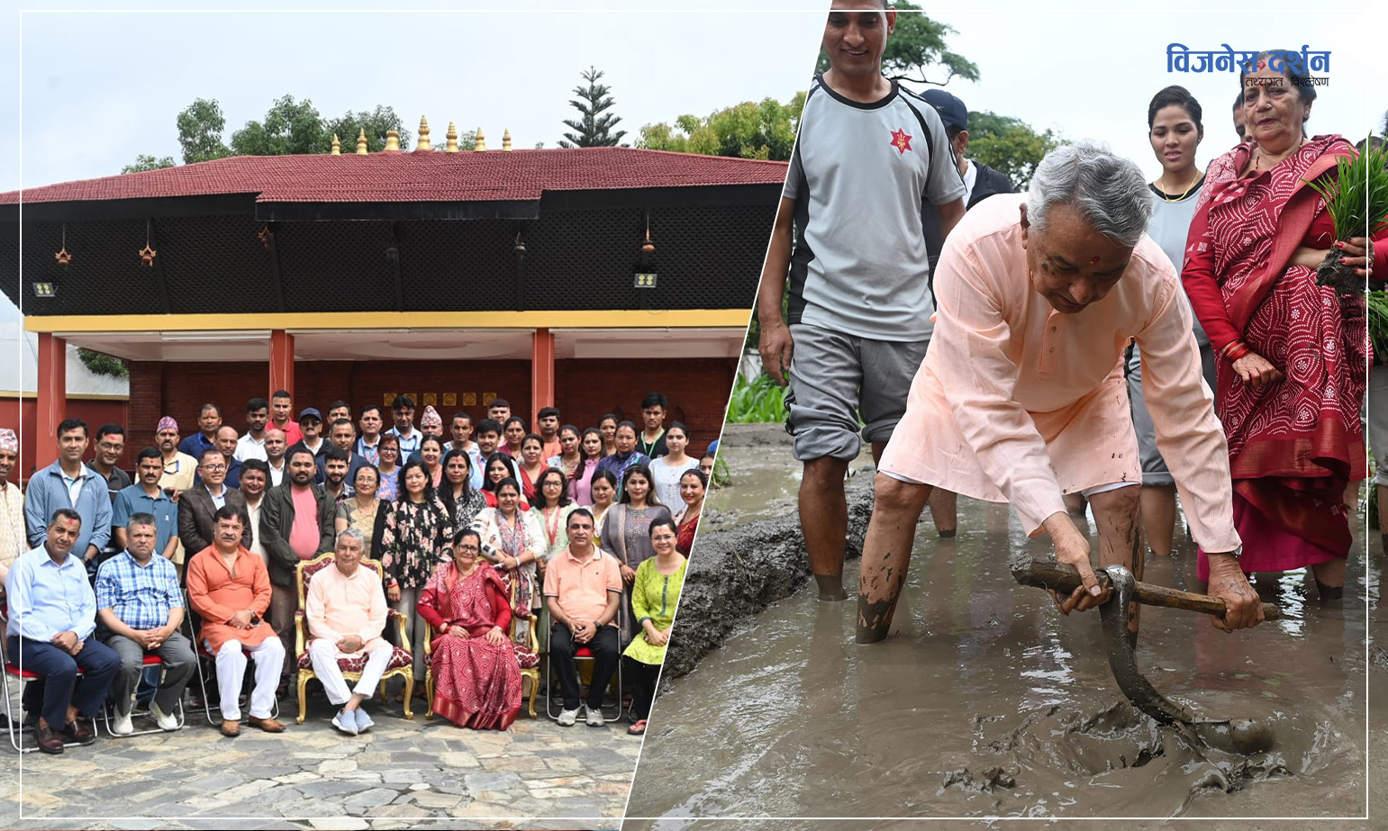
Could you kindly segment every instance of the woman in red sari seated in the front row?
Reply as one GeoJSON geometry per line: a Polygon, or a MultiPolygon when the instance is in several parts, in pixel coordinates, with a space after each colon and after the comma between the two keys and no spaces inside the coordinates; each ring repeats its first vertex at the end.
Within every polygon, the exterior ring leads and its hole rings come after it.
{"type": "Polygon", "coordinates": [[[459,727],[511,727],[520,712],[520,667],[507,640],[511,605],[497,570],[482,559],[477,531],[454,536],[452,562],[434,569],[419,616],[434,627],[433,712],[459,727]]]}

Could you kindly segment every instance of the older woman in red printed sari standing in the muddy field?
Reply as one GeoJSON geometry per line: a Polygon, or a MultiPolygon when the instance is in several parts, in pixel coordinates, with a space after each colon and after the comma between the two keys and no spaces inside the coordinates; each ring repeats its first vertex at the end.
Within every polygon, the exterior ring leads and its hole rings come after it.
{"type": "MultiPolygon", "coordinates": [[[[1306,180],[1353,154],[1339,136],[1307,139],[1316,89],[1259,55],[1241,75],[1249,144],[1210,162],[1181,272],[1217,362],[1216,405],[1228,440],[1234,523],[1245,573],[1309,566],[1321,599],[1342,597],[1352,483],[1364,477],[1359,404],[1369,334],[1363,294],[1316,284],[1335,247],[1367,276],[1388,246],[1335,241],[1306,180]],[[1367,254],[1367,255],[1366,255],[1367,254]]],[[[1209,579],[1203,552],[1199,579],[1209,579]]]]}

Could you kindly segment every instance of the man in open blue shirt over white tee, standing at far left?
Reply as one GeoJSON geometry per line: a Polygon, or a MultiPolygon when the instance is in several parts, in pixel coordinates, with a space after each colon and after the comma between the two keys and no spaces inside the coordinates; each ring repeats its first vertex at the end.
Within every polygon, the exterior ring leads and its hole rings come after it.
{"type": "Polygon", "coordinates": [[[87,426],[81,419],[58,425],[58,461],[33,474],[25,492],[24,520],[29,545],[43,545],[49,522],[58,508],[82,517],[72,554],[94,572],[96,556],[111,538],[111,497],[105,479],[82,463],[87,447],[87,426]]]}

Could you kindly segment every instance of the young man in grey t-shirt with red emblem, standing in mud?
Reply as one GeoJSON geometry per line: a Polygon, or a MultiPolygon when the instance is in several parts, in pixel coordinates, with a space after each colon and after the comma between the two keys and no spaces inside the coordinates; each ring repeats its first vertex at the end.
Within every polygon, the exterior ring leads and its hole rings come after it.
{"type": "Polygon", "coordinates": [[[756,304],[762,365],[790,383],[786,427],[805,465],[799,522],[822,599],[847,597],[848,463],[862,440],[880,456],[930,343],[922,201],[947,234],[965,211],[938,112],[881,75],[895,22],[880,1],[833,3],[830,69],[805,98],[756,304]]]}

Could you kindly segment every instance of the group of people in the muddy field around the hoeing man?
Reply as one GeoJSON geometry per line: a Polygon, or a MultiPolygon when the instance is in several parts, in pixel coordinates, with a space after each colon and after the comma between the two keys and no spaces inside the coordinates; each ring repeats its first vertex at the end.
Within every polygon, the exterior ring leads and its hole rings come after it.
{"type": "Polygon", "coordinates": [[[1316,87],[1264,53],[1238,79],[1245,135],[1206,172],[1201,107],[1169,87],[1148,112],[1156,182],[1080,143],[1010,196],[966,158],[958,98],[883,78],[894,25],[874,3],[829,14],[830,69],[806,97],[758,298],[763,366],[790,384],[820,598],[845,597],[841,483],[863,440],[879,473],[861,641],[888,633],[927,504],[954,533],[954,494],[1010,502],[1049,536],[1084,583],[1056,598],[1066,613],[1108,599],[1067,508],[1092,508],[1099,565],[1141,577],[1138,523],[1169,551],[1177,491],[1228,609],[1216,626],[1262,620],[1251,572],[1310,567],[1338,597],[1369,347],[1362,291],[1317,286],[1314,269],[1337,251],[1374,277],[1388,248],[1382,233],[1337,239],[1306,185],[1356,153],[1307,133],[1316,87]]]}

